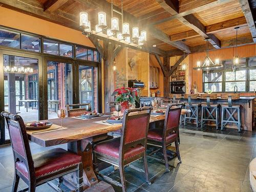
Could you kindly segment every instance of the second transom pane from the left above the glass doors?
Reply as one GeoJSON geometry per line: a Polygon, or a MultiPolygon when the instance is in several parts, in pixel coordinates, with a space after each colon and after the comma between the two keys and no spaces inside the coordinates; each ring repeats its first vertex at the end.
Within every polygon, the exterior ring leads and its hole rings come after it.
{"type": "Polygon", "coordinates": [[[38,37],[22,34],[22,49],[40,52],[40,39],[38,37]]]}

